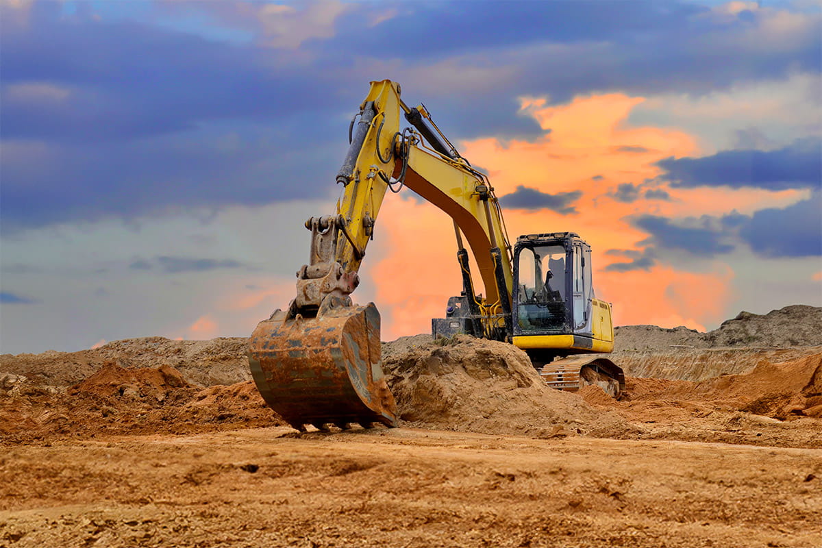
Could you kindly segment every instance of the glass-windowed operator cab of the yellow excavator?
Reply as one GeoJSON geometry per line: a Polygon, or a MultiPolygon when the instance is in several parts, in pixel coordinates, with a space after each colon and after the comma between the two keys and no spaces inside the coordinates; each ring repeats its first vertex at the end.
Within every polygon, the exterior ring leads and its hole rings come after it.
{"type": "Polygon", "coordinates": [[[514,336],[593,337],[591,246],[576,233],[529,234],[514,247],[514,336]]]}

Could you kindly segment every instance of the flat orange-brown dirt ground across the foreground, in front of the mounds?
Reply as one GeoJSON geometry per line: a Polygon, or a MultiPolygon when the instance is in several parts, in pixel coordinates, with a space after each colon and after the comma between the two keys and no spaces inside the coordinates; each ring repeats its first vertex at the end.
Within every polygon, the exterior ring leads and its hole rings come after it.
{"type": "Polygon", "coordinates": [[[822,449],[285,427],[5,452],[0,546],[822,546],[822,449]]]}

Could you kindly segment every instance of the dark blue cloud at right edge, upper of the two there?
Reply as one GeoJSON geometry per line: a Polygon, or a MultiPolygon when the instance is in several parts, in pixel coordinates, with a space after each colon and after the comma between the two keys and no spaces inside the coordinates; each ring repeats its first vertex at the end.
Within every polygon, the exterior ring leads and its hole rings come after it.
{"type": "Polygon", "coordinates": [[[779,150],[724,150],[703,158],[667,158],[658,166],[673,187],[818,188],[822,140],[797,140],[779,150]]]}

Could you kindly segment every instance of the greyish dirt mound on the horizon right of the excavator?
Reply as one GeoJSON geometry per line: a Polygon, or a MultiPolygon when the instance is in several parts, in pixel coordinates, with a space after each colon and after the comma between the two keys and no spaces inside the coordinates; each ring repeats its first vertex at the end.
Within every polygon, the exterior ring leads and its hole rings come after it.
{"type": "Polygon", "coordinates": [[[677,327],[625,325],[614,329],[619,351],[669,351],[685,348],[791,348],[822,345],[822,307],[792,305],[768,314],[742,311],[718,329],[700,333],[677,327]]]}

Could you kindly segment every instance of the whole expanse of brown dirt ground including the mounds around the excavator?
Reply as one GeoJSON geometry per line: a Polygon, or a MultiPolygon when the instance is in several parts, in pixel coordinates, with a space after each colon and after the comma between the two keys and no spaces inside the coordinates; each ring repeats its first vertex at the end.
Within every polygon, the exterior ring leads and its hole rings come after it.
{"type": "Polygon", "coordinates": [[[819,313],[741,314],[720,347],[621,328],[654,343],[614,354],[619,401],[510,345],[401,338],[399,428],[302,435],[242,339],[2,355],[0,548],[822,548],[819,313]]]}

